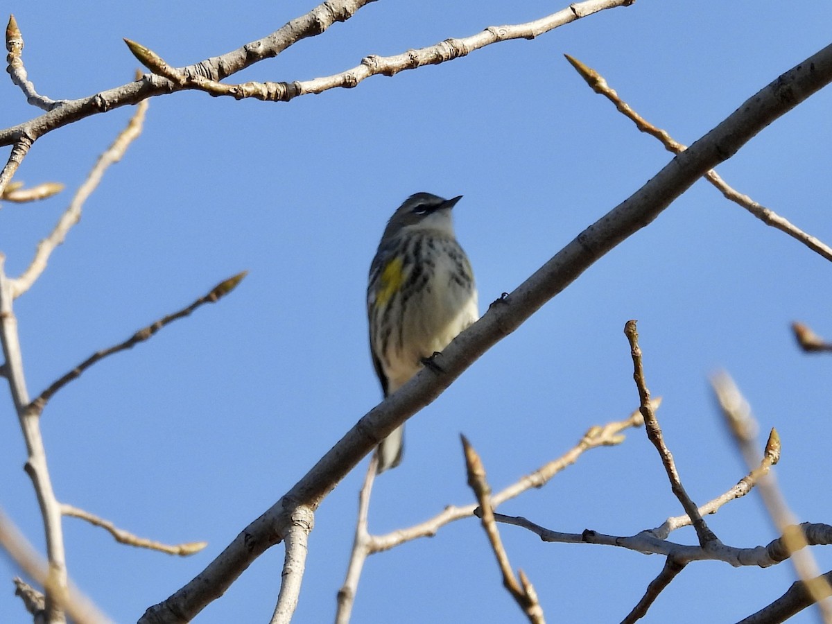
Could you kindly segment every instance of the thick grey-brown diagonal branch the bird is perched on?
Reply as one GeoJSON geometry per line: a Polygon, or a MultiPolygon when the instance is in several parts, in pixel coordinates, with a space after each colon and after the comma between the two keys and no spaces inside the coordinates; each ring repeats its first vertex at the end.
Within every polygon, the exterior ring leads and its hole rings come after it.
{"type": "Polygon", "coordinates": [[[424,369],[371,409],[300,481],[245,527],[191,582],[150,607],[141,624],[193,619],[222,595],[260,554],[288,531],[291,509],[317,509],[324,498],[394,428],[432,402],[465,369],[566,289],[622,240],[649,225],[706,171],[733,156],[752,136],[832,81],[832,45],[777,77],[719,126],[676,156],[631,197],[582,231],[517,289],[453,339],[441,354],[443,372],[424,369]]]}

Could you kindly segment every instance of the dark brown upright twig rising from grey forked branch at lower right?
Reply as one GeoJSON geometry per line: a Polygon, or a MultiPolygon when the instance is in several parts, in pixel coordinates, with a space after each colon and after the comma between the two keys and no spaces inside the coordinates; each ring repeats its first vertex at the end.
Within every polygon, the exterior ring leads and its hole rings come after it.
{"type": "Polygon", "coordinates": [[[699,513],[699,508],[696,507],[696,503],[687,495],[684,486],[681,484],[681,478],[679,478],[679,472],[676,470],[673,455],[670,449],[667,448],[664,436],[661,434],[659,421],[656,420],[656,414],[654,414],[651,408],[650,390],[647,389],[644,379],[644,369],[641,365],[641,347],[638,345],[638,331],[636,330],[635,320],[628,320],[626,322],[624,325],[624,334],[630,342],[630,354],[633,364],[632,377],[636,381],[638,396],[641,399],[641,414],[644,416],[644,428],[647,433],[647,438],[650,439],[653,446],[659,452],[661,463],[665,467],[667,478],[671,482],[671,490],[676,495],[676,498],[679,499],[679,503],[681,503],[685,513],[693,521],[693,527],[696,529],[696,537],[699,538],[700,546],[705,548],[711,544],[719,545],[719,539],[708,528],[708,525],[699,513]]]}

